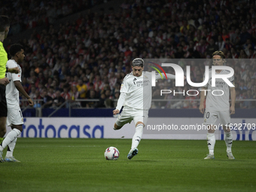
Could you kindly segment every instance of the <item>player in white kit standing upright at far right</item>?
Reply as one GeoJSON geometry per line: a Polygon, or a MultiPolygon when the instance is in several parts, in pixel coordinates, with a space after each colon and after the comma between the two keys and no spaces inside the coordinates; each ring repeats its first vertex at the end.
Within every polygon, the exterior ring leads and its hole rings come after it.
{"type": "MultiPolygon", "coordinates": [[[[222,51],[218,50],[212,53],[213,65],[223,66],[225,55],[222,51]]],[[[229,74],[227,70],[216,70],[216,74],[229,74]]],[[[234,78],[227,78],[232,84],[234,84],[234,78]]],[[[236,90],[235,87],[229,87],[228,84],[220,78],[216,78],[215,87],[212,87],[212,70],[209,70],[209,81],[206,87],[202,90],[208,90],[207,97],[205,92],[202,91],[200,96],[200,112],[204,113],[204,124],[208,125],[207,133],[207,145],[209,148],[209,154],[205,159],[214,159],[214,148],[215,148],[215,129],[217,119],[222,124],[224,129],[224,140],[227,146],[227,157],[229,159],[235,159],[233,157],[231,147],[233,142],[233,136],[230,130],[230,114],[235,114],[235,102],[236,102],[236,90]],[[212,94],[214,91],[214,95],[212,94]],[[229,99],[231,97],[231,106],[229,99]],[[206,98],[206,110],[204,111],[203,102],[206,98]]]]}

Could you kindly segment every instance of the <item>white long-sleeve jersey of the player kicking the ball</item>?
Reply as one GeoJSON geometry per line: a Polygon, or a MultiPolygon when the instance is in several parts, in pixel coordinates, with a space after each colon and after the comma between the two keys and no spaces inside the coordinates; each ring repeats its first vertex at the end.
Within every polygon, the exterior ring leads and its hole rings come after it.
{"type": "MultiPolygon", "coordinates": [[[[162,74],[165,78],[165,75],[162,74]]],[[[120,97],[117,101],[117,107],[120,111],[123,104],[130,108],[148,110],[151,108],[152,99],[152,73],[142,72],[142,75],[136,77],[130,72],[123,78],[120,87],[120,97]]],[[[167,79],[175,79],[175,75],[166,74],[167,79]]],[[[161,76],[156,74],[156,81],[161,76]]]]}

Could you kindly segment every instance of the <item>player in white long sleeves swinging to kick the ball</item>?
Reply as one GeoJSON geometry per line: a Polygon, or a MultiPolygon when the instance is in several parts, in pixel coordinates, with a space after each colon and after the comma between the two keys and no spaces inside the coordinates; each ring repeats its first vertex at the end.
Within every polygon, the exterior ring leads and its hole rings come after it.
{"type": "MultiPolygon", "coordinates": [[[[130,123],[132,120],[136,126],[132,148],[127,155],[128,159],[132,159],[138,154],[137,147],[142,139],[143,127],[148,120],[148,110],[151,108],[152,97],[151,72],[143,72],[144,60],[141,58],[133,59],[132,69],[133,72],[123,78],[117,107],[113,111],[113,114],[118,114],[123,106],[123,111],[114,123],[114,130],[120,130],[124,124],[130,123]]],[[[168,79],[175,79],[175,75],[166,74],[166,76],[168,79]]],[[[160,75],[156,74],[156,80],[160,78],[160,75]]]]}

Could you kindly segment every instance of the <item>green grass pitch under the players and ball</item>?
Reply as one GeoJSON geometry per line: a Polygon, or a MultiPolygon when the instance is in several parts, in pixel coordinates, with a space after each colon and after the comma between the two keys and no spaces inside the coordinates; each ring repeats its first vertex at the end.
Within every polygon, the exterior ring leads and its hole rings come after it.
{"type": "MultiPolygon", "coordinates": [[[[206,141],[142,139],[18,139],[14,157],[0,163],[0,191],[256,191],[256,142],[233,142],[228,160],[216,141],[215,160],[204,160],[206,141]],[[118,160],[105,160],[114,146],[118,160]]],[[[5,150],[6,151],[6,150],[5,150]]],[[[5,156],[5,152],[4,152],[5,156]]]]}

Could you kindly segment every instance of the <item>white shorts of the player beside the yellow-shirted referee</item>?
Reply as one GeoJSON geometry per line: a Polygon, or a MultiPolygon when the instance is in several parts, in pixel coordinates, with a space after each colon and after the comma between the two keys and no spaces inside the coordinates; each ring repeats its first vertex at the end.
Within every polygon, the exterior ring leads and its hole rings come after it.
{"type": "Polygon", "coordinates": [[[23,114],[20,110],[20,106],[16,106],[15,108],[8,108],[6,124],[8,126],[23,124],[23,114]]]}

